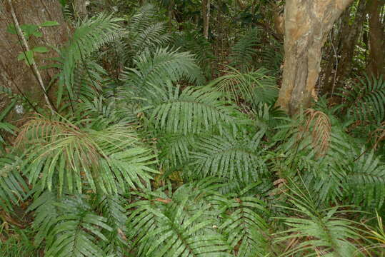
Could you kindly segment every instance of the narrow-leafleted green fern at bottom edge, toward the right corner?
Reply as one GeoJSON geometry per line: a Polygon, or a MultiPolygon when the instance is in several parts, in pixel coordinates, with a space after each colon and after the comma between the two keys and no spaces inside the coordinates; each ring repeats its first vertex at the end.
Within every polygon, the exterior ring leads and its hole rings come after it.
{"type": "Polygon", "coordinates": [[[277,233],[279,238],[276,242],[292,242],[281,256],[297,253],[301,256],[355,256],[354,241],[359,239],[359,235],[351,221],[338,218],[344,210],[340,211],[339,206],[318,210],[308,196],[309,192],[305,193],[299,186],[290,190],[292,194],[287,196],[293,207],[281,208],[296,213],[296,216],[281,218],[289,229],[277,233]]]}

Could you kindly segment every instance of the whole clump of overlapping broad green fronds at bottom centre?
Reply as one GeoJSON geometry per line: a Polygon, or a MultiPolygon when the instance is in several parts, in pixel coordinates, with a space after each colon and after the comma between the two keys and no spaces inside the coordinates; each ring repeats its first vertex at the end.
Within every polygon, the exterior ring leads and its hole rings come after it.
{"type": "Polygon", "coordinates": [[[136,256],[255,256],[255,249],[266,256],[266,208],[249,193],[256,184],[222,196],[224,186],[204,178],[169,195],[138,193],[146,199],[128,206],[136,256]]]}

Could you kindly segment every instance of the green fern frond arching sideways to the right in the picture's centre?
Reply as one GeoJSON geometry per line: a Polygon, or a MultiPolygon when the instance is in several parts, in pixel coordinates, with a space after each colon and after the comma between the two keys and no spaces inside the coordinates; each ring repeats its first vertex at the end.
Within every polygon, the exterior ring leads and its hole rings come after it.
{"type": "Polygon", "coordinates": [[[153,87],[149,121],[157,129],[169,133],[201,133],[246,122],[239,111],[221,101],[222,94],[209,87],[187,87],[183,91],[168,84],[167,89],[153,87]]]}

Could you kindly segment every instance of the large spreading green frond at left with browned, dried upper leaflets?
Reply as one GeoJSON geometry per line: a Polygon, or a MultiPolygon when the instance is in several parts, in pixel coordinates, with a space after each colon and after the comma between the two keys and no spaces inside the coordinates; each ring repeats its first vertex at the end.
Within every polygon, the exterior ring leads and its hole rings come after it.
{"type": "Polygon", "coordinates": [[[19,141],[27,141],[25,174],[32,184],[51,190],[58,186],[81,193],[84,183],[92,191],[118,193],[124,188],[149,184],[151,150],[139,146],[125,124],[95,131],[81,129],[69,121],[36,118],[24,125],[19,141]]]}

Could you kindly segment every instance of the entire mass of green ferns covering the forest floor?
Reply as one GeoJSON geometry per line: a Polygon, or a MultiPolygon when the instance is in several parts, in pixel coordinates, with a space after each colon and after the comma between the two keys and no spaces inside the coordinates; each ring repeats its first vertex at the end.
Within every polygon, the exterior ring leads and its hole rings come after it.
{"type": "Polygon", "coordinates": [[[52,110],[0,87],[2,256],[385,256],[384,78],[288,116],[279,39],[214,51],[159,2],[64,5],[52,110]]]}

